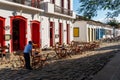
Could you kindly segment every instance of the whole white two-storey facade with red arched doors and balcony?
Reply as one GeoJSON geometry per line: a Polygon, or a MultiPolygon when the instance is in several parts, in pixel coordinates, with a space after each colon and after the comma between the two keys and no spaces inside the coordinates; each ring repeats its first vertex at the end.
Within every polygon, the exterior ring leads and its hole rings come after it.
{"type": "Polygon", "coordinates": [[[72,0],[0,1],[0,44],[23,50],[29,40],[40,48],[73,40],[72,0]]]}

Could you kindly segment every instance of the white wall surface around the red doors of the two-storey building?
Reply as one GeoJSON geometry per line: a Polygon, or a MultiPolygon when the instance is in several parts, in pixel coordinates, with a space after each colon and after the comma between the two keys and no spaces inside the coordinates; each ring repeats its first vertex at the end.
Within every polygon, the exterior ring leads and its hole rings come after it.
{"type": "MultiPolygon", "coordinates": [[[[50,0],[44,0],[46,2],[50,2],[50,0]]],[[[60,0],[55,0],[57,5],[60,5],[60,0]]],[[[66,2],[66,1],[65,1],[66,2]]],[[[65,3],[66,5],[66,3],[65,3]]],[[[72,6],[72,3],[71,3],[72,6]]],[[[71,18],[69,19],[67,17],[64,18],[61,16],[57,16],[52,14],[47,15],[44,12],[39,12],[36,10],[30,10],[30,9],[24,9],[17,7],[17,6],[10,6],[10,5],[5,5],[5,4],[0,4],[0,16],[6,18],[5,21],[5,26],[9,25],[10,26],[10,16],[13,16],[13,13],[15,15],[21,15],[25,18],[27,18],[27,40],[31,40],[31,27],[30,27],[30,21],[32,20],[37,20],[39,21],[40,24],[40,37],[41,37],[41,47],[43,48],[44,46],[50,46],[50,30],[49,30],[49,22],[50,19],[55,22],[55,34],[59,34],[59,22],[62,22],[63,24],[63,42],[67,42],[67,32],[66,32],[66,26],[67,23],[70,24],[70,41],[73,40],[73,24],[71,18]],[[49,19],[50,18],[50,19],[49,19]],[[53,18],[53,19],[52,19],[53,18]]],[[[63,14],[64,15],[64,14],[63,14]]],[[[10,34],[10,30],[7,30],[5,32],[6,34],[10,34]]],[[[59,42],[59,38],[55,38],[55,42],[59,42]]],[[[6,41],[6,45],[10,43],[10,41],[6,41]]]]}

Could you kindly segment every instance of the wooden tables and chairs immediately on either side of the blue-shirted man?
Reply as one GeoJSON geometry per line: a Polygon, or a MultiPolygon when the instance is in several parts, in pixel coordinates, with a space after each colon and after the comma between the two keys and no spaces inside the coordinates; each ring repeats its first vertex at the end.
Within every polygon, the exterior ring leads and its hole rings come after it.
{"type": "MultiPolygon", "coordinates": [[[[41,68],[45,65],[45,62],[48,58],[49,54],[41,54],[40,48],[38,48],[37,44],[33,44],[33,49],[31,53],[31,66],[33,69],[41,68]]],[[[25,60],[23,51],[16,51],[12,55],[11,59],[13,66],[15,68],[20,67],[24,68],[25,60]]]]}

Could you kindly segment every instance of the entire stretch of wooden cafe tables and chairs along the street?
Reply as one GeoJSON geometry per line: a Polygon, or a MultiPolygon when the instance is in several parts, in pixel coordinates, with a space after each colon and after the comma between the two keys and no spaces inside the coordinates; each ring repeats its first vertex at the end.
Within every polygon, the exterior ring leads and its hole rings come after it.
{"type": "MultiPolygon", "coordinates": [[[[55,59],[71,58],[73,55],[82,54],[89,50],[94,50],[100,45],[99,42],[76,42],[72,41],[70,44],[59,44],[58,42],[55,46],[47,49],[40,49],[37,44],[33,44],[32,54],[31,54],[31,66],[33,69],[42,68],[49,58],[56,57],[55,59]]],[[[3,49],[3,48],[0,48],[3,49]]],[[[4,48],[8,49],[8,47],[4,48]]],[[[2,57],[1,57],[2,58],[2,57]]],[[[9,62],[14,66],[14,68],[24,68],[24,55],[23,51],[16,51],[10,56],[9,62]]]]}

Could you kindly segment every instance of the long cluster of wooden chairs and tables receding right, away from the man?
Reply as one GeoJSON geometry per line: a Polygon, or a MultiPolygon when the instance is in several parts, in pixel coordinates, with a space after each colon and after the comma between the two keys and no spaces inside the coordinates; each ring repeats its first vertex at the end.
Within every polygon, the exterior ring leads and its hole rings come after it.
{"type": "Polygon", "coordinates": [[[100,46],[100,42],[76,42],[60,45],[58,42],[53,46],[53,49],[59,59],[71,57],[72,55],[82,54],[85,51],[94,50],[100,46]]]}

